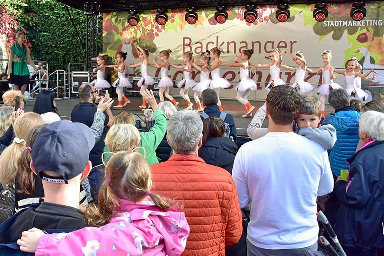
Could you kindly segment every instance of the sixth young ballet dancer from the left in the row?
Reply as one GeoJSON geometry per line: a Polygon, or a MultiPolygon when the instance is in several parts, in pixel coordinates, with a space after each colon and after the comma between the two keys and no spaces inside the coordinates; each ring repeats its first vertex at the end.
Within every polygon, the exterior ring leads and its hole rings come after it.
{"type": "Polygon", "coordinates": [[[197,104],[197,111],[199,112],[203,112],[204,108],[202,108],[201,102],[198,96],[201,95],[201,93],[205,89],[208,89],[212,82],[212,80],[209,79],[209,73],[210,73],[208,69],[209,61],[210,61],[209,50],[205,51],[200,55],[201,66],[196,65],[196,63],[194,63],[194,59],[192,59],[192,66],[198,71],[200,71],[200,82],[193,87],[193,90],[194,90],[193,97],[197,104]]]}

